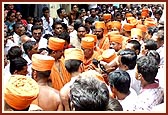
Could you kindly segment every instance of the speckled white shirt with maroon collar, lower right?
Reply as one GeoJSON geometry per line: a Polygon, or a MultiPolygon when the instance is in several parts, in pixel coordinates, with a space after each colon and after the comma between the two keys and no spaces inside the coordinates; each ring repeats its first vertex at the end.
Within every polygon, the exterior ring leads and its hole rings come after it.
{"type": "Polygon", "coordinates": [[[159,87],[158,83],[149,84],[138,95],[133,110],[135,111],[151,111],[151,109],[163,102],[164,91],[159,87]]]}

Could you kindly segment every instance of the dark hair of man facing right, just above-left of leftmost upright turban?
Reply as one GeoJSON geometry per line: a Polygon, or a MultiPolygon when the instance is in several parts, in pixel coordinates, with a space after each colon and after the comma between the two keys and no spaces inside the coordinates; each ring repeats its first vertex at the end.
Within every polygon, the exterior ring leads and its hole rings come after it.
{"type": "Polygon", "coordinates": [[[35,41],[26,41],[23,44],[23,49],[25,51],[25,54],[28,54],[28,51],[32,50],[33,46],[36,45],[37,43],[35,41]]]}

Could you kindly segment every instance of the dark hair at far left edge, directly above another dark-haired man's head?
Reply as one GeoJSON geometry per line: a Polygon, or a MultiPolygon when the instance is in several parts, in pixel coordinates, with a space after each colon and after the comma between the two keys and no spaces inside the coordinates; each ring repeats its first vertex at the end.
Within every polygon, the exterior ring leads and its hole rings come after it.
{"type": "Polygon", "coordinates": [[[15,59],[17,57],[21,57],[22,53],[23,53],[22,49],[19,46],[12,46],[8,50],[7,59],[12,60],[12,59],[15,59]]]}

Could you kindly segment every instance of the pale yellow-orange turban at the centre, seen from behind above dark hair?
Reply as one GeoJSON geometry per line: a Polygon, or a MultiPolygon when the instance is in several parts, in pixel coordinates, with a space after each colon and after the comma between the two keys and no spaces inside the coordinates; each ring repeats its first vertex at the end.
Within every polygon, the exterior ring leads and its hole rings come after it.
{"type": "Polygon", "coordinates": [[[84,60],[84,52],[79,48],[68,48],[64,51],[65,60],[84,60]]]}

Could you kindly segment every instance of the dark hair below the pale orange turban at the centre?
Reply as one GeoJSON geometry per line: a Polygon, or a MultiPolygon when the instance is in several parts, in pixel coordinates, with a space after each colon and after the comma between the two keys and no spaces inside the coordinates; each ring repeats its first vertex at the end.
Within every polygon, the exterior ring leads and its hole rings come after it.
{"type": "Polygon", "coordinates": [[[81,60],[74,60],[74,59],[66,60],[65,68],[69,73],[77,72],[81,63],[82,63],[81,60]]]}

